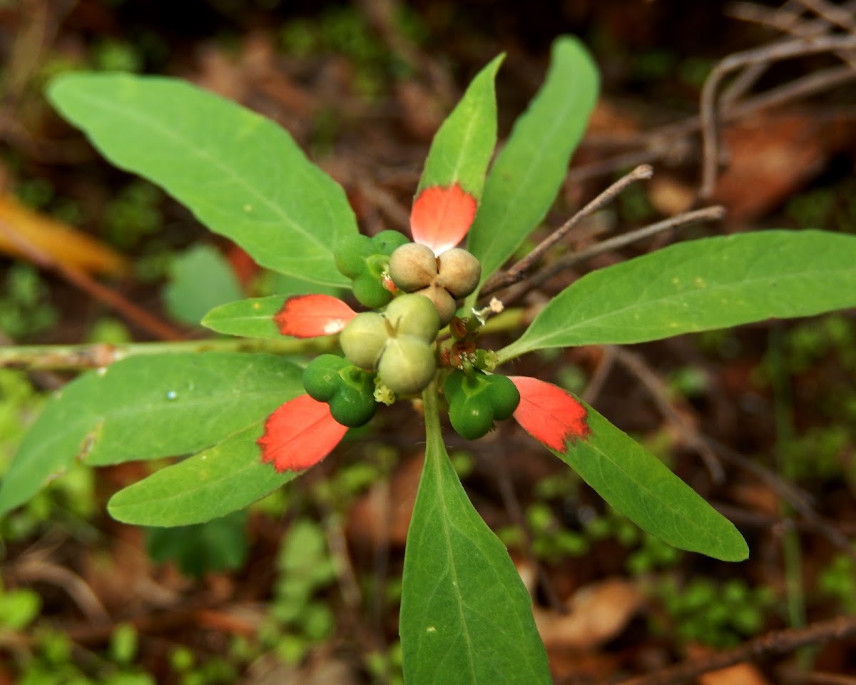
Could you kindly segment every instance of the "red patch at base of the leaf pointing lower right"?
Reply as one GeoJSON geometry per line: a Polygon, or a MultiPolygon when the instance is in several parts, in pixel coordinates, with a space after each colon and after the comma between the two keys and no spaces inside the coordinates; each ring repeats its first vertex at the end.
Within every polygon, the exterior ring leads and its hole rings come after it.
{"type": "Polygon", "coordinates": [[[514,419],[539,443],[564,452],[568,440],[576,442],[591,432],[586,408],[562,388],[529,376],[508,378],[520,392],[514,419]]]}

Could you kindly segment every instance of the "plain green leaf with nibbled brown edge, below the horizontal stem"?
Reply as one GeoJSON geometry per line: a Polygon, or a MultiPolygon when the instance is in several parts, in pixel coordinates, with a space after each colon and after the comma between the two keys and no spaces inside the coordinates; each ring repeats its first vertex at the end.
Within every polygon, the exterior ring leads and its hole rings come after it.
{"type": "Polygon", "coordinates": [[[56,393],[0,482],[0,515],[80,458],[90,465],[192,454],[303,392],[301,369],[271,354],[144,354],[56,393]]]}

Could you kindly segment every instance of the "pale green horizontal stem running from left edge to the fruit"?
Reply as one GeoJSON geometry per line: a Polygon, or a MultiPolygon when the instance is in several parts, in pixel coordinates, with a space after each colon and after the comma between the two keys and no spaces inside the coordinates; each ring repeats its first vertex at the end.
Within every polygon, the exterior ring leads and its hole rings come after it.
{"type": "Polygon", "coordinates": [[[334,347],[331,336],[295,338],[215,338],[166,343],[110,345],[20,345],[0,348],[0,367],[28,370],[77,371],[110,364],[138,354],[187,352],[267,352],[270,354],[317,354],[334,347]]]}

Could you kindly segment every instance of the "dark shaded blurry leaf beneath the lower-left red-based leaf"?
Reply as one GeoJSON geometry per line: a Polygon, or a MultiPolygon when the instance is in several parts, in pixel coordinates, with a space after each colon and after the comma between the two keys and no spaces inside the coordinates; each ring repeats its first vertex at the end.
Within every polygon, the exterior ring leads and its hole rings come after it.
{"type": "Polygon", "coordinates": [[[247,560],[247,512],[236,511],[196,526],[149,528],[146,551],[158,563],[175,562],[184,575],[239,569],[247,560]]]}

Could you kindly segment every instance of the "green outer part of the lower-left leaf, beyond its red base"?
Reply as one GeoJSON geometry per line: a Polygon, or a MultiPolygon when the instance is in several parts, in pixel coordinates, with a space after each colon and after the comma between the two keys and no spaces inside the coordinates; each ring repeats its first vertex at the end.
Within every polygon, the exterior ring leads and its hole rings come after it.
{"type": "Polygon", "coordinates": [[[161,468],[110,497],[117,521],[140,526],[188,526],[244,509],[300,474],[277,473],[261,462],[256,440],[264,421],[177,464],[161,468]]]}

